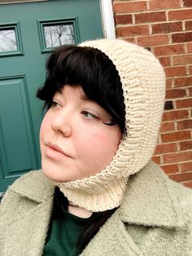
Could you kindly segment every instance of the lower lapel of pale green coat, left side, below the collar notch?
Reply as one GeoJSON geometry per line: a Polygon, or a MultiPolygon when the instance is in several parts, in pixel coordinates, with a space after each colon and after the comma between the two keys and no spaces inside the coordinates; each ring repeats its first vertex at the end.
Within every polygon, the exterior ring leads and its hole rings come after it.
{"type": "Polygon", "coordinates": [[[50,204],[39,204],[17,218],[14,223],[7,225],[5,234],[7,243],[3,255],[42,255],[49,216],[50,204]]]}

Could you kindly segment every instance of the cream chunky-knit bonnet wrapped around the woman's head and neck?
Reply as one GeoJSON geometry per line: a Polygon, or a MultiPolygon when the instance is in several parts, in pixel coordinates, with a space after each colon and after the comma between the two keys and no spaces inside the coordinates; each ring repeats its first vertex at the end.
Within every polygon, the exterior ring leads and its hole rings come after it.
{"type": "Polygon", "coordinates": [[[164,109],[165,77],[155,56],[132,43],[99,39],[80,46],[91,46],[108,55],[124,90],[127,135],[111,164],[94,176],[56,183],[69,201],[97,212],[119,206],[129,176],[151,159],[164,109]]]}

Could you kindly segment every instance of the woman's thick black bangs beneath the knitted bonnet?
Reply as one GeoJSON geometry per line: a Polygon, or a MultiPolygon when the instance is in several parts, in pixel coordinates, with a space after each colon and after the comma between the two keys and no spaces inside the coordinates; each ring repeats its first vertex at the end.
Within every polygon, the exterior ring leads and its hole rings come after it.
{"type": "Polygon", "coordinates": [[[37,97],[50,108],[56,91],[63,86],[81,86],[85,95],[102,106],[124,132],[124,96],[115,65],[92,47],[59,46],[46,63],[46,82],[37,97]]]}

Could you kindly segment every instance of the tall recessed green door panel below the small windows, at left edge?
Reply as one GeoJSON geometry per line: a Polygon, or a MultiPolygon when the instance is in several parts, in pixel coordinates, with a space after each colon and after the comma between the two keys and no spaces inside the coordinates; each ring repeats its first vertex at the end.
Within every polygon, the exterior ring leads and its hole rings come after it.
{"type": "Polygon", "coordinates": [[[0,170],[2,179],[9,181],[37,166],[26,89],[24,77],[0,81],[0,95],[3,95],[0,101],[0,170]]]}

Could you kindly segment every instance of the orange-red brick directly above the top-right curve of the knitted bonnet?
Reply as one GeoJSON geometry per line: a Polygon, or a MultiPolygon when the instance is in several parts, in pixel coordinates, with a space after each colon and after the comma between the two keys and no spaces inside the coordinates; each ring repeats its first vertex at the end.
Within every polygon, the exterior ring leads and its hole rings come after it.
{"type": "Polygon", "coordinates": [[[168,35],[154,35],[137,38],[137,42],[141,46],[157,46],[168,43],[168,35]]]}

